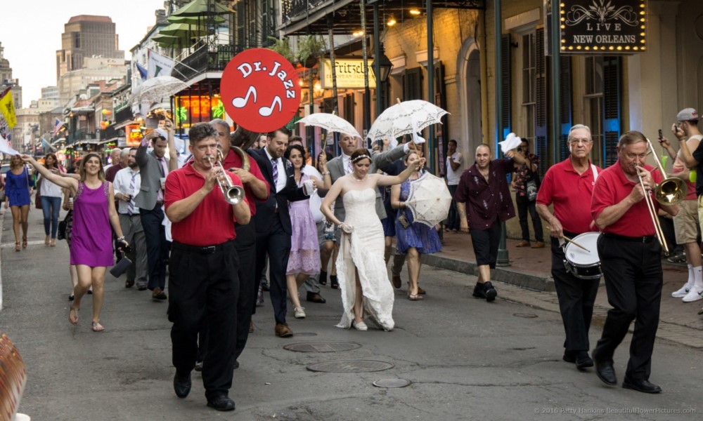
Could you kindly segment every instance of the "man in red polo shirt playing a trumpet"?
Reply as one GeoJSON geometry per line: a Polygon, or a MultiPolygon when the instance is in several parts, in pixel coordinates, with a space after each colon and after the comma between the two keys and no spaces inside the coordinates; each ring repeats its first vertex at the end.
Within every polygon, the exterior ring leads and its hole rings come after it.
{"type": "Polygon", "coordinates": [[[185,398],[191,391],[191,370],[198,353],[198,331],[207,326],[207,352],[202,365],[207,406],[233,410],[228,397],[232,386],[239,295],[239,260],[234,239],[235,222],[251,218],[246,199],[236,205],[225,201],[217,177],[239,178],[213,166],[217,160],[217,131],[209,123],[196,123],[188,132],[193,161],[169,173],[166,179],[166,215],[173,223],[169,267],[169,321],[176,366],[174,390],[185,398]]]}

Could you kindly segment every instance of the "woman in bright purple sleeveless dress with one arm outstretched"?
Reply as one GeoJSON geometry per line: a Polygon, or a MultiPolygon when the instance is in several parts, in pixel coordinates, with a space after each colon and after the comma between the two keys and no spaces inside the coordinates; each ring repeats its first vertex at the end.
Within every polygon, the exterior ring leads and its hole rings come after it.
{"type": "MultiPolygon", "coordinates": [[[[91,153],[83,159],[79,178],[64,178],[51,173],[29,155],[22,160],[31,163],[46,178],[70,191],[73,200],[73,227],[71,233],[71,265],[76,265],[78,285],[73,290],[74,300],[68,313],[72,324],[78,323],[81,299],[93,287],[93,332],[105,330],[100,323],[103,308],[103,282],[105,270],[114,265],[112,258],[112,229],[122,248],[129,246],[124,241],[120,220],[115,210],[115,191],[112,183],[105,181],[105,171],[100,155],[91,153]]],[[[121,248],[120,248],[121,249],[121,248]]]]}

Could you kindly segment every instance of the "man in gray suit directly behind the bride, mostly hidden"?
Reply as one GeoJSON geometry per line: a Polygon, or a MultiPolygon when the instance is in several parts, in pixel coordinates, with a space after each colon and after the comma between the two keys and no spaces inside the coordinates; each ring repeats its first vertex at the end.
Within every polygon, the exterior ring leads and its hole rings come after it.
{"type": "MultiPolygon", "coordinates": [[[[344,177],[352,172],[352,153],[359,149],[357,139],[352,135],[347,135],[342,133],[342,137],[339,141],[340,149],[342,149],[342,154],[331,159],[327,163],[327,168],[330,171],[330,176],[332,177],[332,183],[334,184],[338,178],[344,177]]],[[[401,159],[410,149],[415,149],[415,144],[413,142],[408,142],[404,145],[394,147],[385,152],[378,152],[378,146],[374,146],[373,150],[370,152],[371,155],[371,166],[368,169],[369,174],[376,173],[379,168],[385,167],[398,159],[401,159]]],[[[320,194],[323,196],[323,194],[320,194]]],[[[383,199],[381,198],[381,193],[376,192],[376,214],[379,219],[386,218],[386,210],[383,206],[383,199]]],[[[340,221],[344,220],[347,215],[344,210],[344,201],[340,198],[335,201],[335,217],[340,221]]],[[[337,253],[339,253],[340,241],[342,239],[342,233],[340,229],[335,229],[335,237],[337,239],[335,243],[335,254],[333,258],[337,259],[337,253]]],[[[338,288],[339,283],[337,282],[337,276],[330,276],[330,288],[338,288]]]]}

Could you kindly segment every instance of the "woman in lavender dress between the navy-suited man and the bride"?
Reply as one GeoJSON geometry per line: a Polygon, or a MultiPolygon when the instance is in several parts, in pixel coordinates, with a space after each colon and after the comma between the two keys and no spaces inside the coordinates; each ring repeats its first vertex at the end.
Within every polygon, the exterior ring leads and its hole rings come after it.
{"type": "MultiPolygon", "coordinates": [[[[285,158],[290,160],[295,170],[295,182],[298,187],[303,187],[304,182],[312,180],[314,186],[328,189],[317,178],[303,174],[305,166],[305,149],[300,145],[292,145],[285,151],[285,158]]],[[[326,161],[325,161],[326,165],[326,161]]],[[[317,239],[317,225],[310,211],[310,201],[301,200],[290,202],[290,257],[288,268],[285,271],[285,283],[288,286],[290,302],[294,307],[295,318],[304,319],[305,309],[300,305],[298,287],[301,286],[309,275],[320,272],[320,245],[317,239]]]]}

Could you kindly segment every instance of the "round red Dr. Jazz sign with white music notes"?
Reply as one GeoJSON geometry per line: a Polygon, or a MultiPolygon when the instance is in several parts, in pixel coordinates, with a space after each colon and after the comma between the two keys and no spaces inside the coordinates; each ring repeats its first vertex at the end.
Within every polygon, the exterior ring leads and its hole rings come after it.
{"type": "Polygon", "coordinates": [[[235,55],[222,73],[220,93],[233,121],[258,133],[285,126],[300,105],[295,68],[268,48],[235,55]]]}

